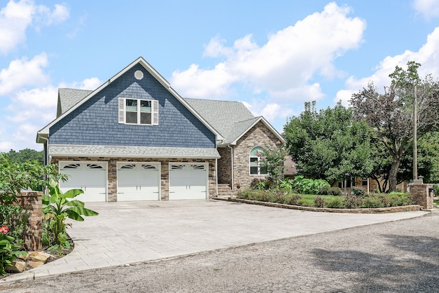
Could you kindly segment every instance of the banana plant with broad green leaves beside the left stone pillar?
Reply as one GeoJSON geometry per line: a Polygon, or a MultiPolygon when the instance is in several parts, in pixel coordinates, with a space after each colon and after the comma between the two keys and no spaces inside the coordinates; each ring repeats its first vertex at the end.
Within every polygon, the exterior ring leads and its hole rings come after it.
{"type": "Polygon", "coordinates": [[[49,249],[58,249],[58,254],[62,253],[63,248],[70,248],[67,241],[66,218],[82,222],[82,215],[98,215],[97,212],[86,209],[84,202],[71,200],[80,194],[84,194],[81,189],[70,189],[62,193],[54,180],[49,183],[49,194],[43,194],[43,213],[49,218],[48,231],[53,236],[47,235],[47,239],[55,239],[54,245],[49,249]]]}

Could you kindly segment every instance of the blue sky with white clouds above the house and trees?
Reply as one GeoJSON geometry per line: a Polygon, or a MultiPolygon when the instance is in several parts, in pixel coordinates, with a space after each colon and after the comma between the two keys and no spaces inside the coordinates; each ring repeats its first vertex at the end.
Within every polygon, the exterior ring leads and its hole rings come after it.
{"type": "Polygon", "coordinates": [[[241,101],[278,131],[416,60],[439,78],[439,0],[0,0],[0,152],[33,148],[58,88],[139,56],[183,97],[241,101]]]}

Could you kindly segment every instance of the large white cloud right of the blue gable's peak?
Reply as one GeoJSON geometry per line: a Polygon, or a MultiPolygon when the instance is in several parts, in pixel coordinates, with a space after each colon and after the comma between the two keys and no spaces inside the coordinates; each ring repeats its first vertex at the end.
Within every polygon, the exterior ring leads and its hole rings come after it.
{"type": "Polygon", "coordinates": [[[350,12],[348,6],[329,3],[322,12],[268,36],[263,46],[250,34],[235,40],[233,47],[225,47],[225,40],[215,37],[205,46],[204,56],[224,60],[213,69],[191,65],[186,71],[174,71],[171,84],[188,97],[224,98],[233,95],[233,84],[240,83],[278,102],[296,99],[296,93],[308,93],[307,100],[318,99],[320,86],[309,84],[313,76],[339,75],[335,58],[363,41],[366,23],[348,17],[350,12]]]}

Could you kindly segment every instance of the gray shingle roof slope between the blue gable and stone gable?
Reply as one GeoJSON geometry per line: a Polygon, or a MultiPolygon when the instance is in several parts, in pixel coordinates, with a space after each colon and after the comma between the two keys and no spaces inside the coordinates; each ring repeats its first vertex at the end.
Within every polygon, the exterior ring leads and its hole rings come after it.
{"type": "Polygon", "coordinates": [[[237,133],[239,130],[247,130],[241,127],[239,122],[254,118],[250,110],[241,102],[188,98],[185,98],[185,101],[206,119],[225,138],[226,142],[234,141],[232,137],[239,137],[242,134],[242,132],[237,133]]]}

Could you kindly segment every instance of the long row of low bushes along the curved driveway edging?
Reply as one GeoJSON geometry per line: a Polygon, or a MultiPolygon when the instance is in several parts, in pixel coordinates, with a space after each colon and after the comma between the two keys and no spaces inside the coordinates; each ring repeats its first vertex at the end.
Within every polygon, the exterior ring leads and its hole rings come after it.
{"type": "Polygon", "coordinates": [[[390,194],[364,194],[357,196],[317,196],[309,194],[291,194],[272,189],[244,189],[237,198],[262,202],[278,202],[281,204],[300,205],[305,207],[326,207],[337,209],[400,207],[414,204],[414,198],[408,193],[392,192],[390,194]]]}

